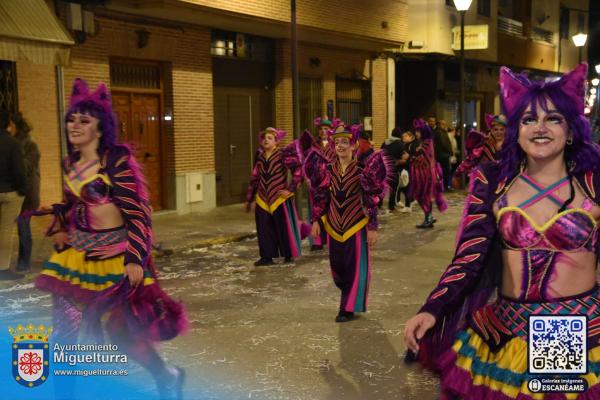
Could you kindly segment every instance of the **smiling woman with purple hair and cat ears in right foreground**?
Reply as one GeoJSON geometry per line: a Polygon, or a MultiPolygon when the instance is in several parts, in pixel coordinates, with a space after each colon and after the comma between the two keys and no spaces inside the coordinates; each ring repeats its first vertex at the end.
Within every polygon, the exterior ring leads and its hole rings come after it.
{"type": "Polygon", "coordinates": [[[454,258],[405,329],[407,347],[441,374],[442,398],[600,398],[600,150],[586,78],[586,64],[553,82],[500,70],[502,162],[472,173],[454,258]],[[587,390],[532,393],[529,317],[575,314],[587,319],[587,390]]]}

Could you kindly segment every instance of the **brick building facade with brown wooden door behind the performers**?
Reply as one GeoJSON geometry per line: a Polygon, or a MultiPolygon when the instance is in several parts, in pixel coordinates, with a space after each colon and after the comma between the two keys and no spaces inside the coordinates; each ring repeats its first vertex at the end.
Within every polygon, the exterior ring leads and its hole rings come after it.
{"type": "MultiPolygon", "coordinates": [[[[47,4],[69,27],[70,5],[47,4]]],[[[258,129],[276,125],[293,136],[289,2],[117,0],[83,8],[94,13],[95,29],[71,30],[78,43],[69,66],[17,62],[19,107],[42,149],[42,202],[60,199],[60,114],[76,77],[109,84],[121,138],[134,142],[152,178],[155,208],[186,213],[241,201],[258,129]],[[272,52],[266,61],[230,59],[215,54],[219,35],[233,37],[236,48],[254,40],[255,53],[259,43],[272,52]],[[246,65],[261,69],[266,84],[244,76],[246,65]],[[223,66],[240,74],[227,76],[223,66]]],[[[297,15],[300,94],[313,101],[303,120],[318,116],[307,114],[314,110],[336,117],[343,107],[357,122],[372,122],[378,145],[394,127],[390,55],[407,35],[406,2],[303,1],[297,15]]]]}

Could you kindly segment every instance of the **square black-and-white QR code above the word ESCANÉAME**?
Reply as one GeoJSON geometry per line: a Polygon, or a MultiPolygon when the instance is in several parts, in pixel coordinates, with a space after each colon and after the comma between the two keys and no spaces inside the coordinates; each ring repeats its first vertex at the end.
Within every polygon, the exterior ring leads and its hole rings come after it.
{"type": "Polygon", "coordinates": [[[530,316],[529,373],[587,373],[586,336],[585,315],[530,316]]]}

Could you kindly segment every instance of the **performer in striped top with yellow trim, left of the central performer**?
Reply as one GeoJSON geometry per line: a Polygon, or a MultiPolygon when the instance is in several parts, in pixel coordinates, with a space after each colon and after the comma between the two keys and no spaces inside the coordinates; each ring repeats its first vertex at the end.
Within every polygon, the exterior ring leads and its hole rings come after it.
{"type": "Polygon", "coordinates": [[[285,263],[300,257],[300,226],[294,204],[294,190],[302,181],[302,162],[296,143],[279,148],[286,135],[281,129],[267,128],[260,134],[261,149],[254,162],[246,194],[246,211],[256,201],[255,219],[260,259],[255,266],[272,265],[273,258],[285,263]],[[288,184],[288,170],[292,174],[288,184]]]}

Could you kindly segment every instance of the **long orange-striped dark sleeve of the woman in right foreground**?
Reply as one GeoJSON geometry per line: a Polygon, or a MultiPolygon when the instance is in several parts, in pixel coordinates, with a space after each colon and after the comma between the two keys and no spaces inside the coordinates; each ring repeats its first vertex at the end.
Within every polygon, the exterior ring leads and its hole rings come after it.
{"type": "Polygon", "coordinates": [[[493,285],[482,282],[493,274],[486,269],[492,268],[488,263],[496,237],[492,203],[497,169],[496,164],[488,164],[473,171],[454,258],[419,310],[436,318],[420,345],[419,361],[426,366],[434,367],[437,355],[454,341],[465,315],[485,305],[493,290],[493,285]],[[481,279],[484,274],[486,279],[481,279]]]}

